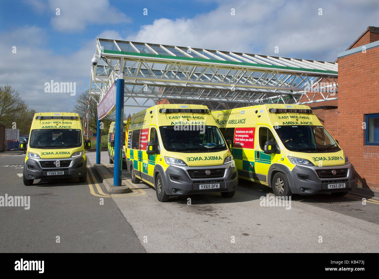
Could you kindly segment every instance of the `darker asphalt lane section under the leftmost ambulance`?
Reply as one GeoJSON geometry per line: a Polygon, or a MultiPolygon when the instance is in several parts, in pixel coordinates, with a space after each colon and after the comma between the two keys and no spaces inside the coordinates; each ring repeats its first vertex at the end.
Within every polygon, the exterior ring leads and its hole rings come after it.
{"type": "Polygon", "coordinates": [[[30,196],[30,209],[0,207],[0,252],[144,252],[112,199],[78,178],[24,186],[25,156],[0,157],[0,196],[30,196]],[[59,236],[59,238],[57,238],[59,236]],[[57,243],[57,241],[60,243],[57,243]]]}

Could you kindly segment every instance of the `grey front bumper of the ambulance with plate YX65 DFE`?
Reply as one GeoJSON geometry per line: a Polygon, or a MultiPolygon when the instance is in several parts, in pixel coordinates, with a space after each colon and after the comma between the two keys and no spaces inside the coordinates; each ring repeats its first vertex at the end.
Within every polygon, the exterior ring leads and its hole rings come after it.
{"type": "Polygon", "coordinates": [[[349,162],[343,166],[312,167],[296,165],[291,172],[287,173],[291,192],[299,195],[314,195],[320,192],[345,192],[351,191],[357,185],[355,170],[349,162]],[[317,170],[348,169],[344,177],[334,178],[332,174],[327,178],[319,178],[317,170]],[[345,183],[345,188],[328,189],[328,184],[345,183]]]}

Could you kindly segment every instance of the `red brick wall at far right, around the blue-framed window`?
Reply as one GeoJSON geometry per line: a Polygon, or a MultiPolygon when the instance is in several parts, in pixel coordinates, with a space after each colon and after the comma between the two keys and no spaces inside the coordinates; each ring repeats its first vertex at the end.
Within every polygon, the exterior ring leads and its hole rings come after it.
{"type": "Polygon", "coordinates": [[[365,113],[379,113],[379,47],[338,59],[337,139],[358,184],[379,191],[379,146],[365,145],[365,113]]]}

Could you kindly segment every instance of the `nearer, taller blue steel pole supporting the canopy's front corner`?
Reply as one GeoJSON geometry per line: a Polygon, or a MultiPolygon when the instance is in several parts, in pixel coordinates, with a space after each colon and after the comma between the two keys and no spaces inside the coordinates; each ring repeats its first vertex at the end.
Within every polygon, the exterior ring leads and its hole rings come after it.
{"type": "Polygon", "coordinates": [[[116,81],[116,121],[114,123],[114,174],[113,186],[121,186],[122,175],[122,125],[124,119],[124,79],[116,81]]]}

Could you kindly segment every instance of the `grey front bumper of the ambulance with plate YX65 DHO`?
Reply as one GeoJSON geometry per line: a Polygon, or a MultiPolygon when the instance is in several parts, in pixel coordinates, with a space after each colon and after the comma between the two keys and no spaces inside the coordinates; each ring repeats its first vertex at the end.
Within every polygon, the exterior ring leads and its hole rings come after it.
{"type": "Polygon", "coordinates": [[[87,175],[87,161],[82,156],[77,158],[60,158],[71,161],[68,167],[42,167],[41,161],[56,161],[57,159],[31,159],[24,163],[24,173],[27,179],[84,177],[87,175]],[[63,171],[63,175],[47,175],[47,172],[63,171]],[[80,173],[80,174],[79,174],[80,173]]]}

